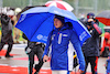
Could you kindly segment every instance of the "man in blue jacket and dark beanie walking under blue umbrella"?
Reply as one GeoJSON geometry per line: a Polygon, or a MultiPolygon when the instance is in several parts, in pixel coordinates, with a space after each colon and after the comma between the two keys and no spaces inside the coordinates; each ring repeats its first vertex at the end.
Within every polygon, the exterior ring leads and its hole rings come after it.
{"type": "Polygon", "coordinates": [[[79,72],[85,70],[85,59],[76,32],[65,23],[64,17],[55,15],[55,29],[50,33],[43,54],[43,62],[46,62],[51,52],[52,74],[70,74],[73,71],[74,50],[68,49],[69,42],[74,45],[79,59],[79,72]],[[51,47],[51,49],[50,49],[51,47]]]}

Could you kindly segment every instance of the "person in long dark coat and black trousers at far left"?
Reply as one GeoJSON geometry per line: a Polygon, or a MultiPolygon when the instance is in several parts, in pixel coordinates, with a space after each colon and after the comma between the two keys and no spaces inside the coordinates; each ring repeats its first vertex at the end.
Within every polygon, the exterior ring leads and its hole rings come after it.
{"type": "Polygon", "coordinates": [[[8,43],[9,46],[8,46],[6,57],[13,57],[12,55],[10,55],[13,45],[11,19],[8,15],[2,14],[1,24],[2,24],[2,29],[1,29],[2,36],[0,43],[0,51],[2,50],[3,45],[8,43]]]}

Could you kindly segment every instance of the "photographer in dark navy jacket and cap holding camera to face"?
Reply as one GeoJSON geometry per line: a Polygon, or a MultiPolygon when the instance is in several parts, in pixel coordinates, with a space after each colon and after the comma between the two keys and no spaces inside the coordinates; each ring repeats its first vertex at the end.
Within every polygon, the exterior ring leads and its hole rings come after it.
{"type": "Polygon", "coordinates": [[[99,22],[97,19],[95,19],[95,14],[91,12],[88,13],[85,25],[90,32],[91,38],[89,38],[82,45],[82,52],[86,61],[86,68],[84,74],[86,74],[88,63],[90,63],[91,65],[92,74],[97,74],[97,64],[99,56],[99,35],[102,33],[98,24],[99,22]]]}

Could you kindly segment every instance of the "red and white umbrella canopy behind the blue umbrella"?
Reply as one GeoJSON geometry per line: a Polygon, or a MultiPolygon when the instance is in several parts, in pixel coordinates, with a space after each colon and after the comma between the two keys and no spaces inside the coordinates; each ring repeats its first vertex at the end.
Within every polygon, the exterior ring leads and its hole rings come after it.
{"type": "Polygon", "coordinates": [[[68,11],[73,11],[74,10],[74,8],[70,4],[68,4],[67,2],[65,2],[65,1],[47,1],[45,3],[45,6],[46,7],[54,6],[54,7],[57,7],[59,9],[68,10],[68,11]]]}

